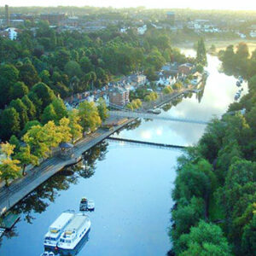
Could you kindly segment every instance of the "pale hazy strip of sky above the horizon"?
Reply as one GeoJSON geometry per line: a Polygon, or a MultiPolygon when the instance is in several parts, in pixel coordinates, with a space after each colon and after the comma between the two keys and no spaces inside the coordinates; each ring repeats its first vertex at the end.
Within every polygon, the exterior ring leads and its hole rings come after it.
{"type": "Polygon", "coordinates": [[[137,7],[145,6],[147,8],[190,8],[190,9],[251,9],[256,10],[255,0],[243,1],[225,0],[5,0],[3,4],[10,6],[57,6],[57,5],[73,5],[73,6],[113,6],[137,7]]]}

